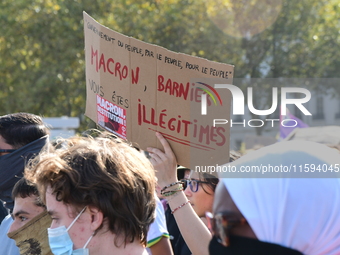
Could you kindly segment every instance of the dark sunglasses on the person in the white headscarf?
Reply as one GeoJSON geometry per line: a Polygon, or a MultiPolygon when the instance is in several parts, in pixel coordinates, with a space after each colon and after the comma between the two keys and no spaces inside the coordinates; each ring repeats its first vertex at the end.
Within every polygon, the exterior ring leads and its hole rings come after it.
{"type": "Polygon", "coordinates": [[[206,212],[205,216],[210,232],[220,244],[226,247],[230,244],[230,230],[236,226],[248,224],[247,220],[240,213],[221,212],[213,215],[211,212],[206,212]]]}

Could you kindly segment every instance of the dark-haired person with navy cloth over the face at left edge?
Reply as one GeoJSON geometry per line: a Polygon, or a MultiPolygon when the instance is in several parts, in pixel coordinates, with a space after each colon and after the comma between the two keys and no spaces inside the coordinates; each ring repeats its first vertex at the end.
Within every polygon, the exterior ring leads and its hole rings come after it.
{"type": "MultiPolygon", "coordinates": [[[[0,116],[0,207],[12,213],[12,189],[22,177],[25,164],[48,143],[49,130],[41,117],[30,113],[0,116]],[[5,205],[6,208],[5,209],[5,205]]],[[[10,215],[0,225],[0,255],[16,255],[19,249],[7,232],[13,219],[10,215]]]]}

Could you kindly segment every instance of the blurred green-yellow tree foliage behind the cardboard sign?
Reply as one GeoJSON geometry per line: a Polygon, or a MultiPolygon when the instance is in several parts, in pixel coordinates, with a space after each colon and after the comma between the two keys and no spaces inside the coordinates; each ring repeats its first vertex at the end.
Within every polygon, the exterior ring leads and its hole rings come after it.
{"type": "Polygon", "coordinates": [[[233,64],[238,78],[339,77],[338,1],[270,2],[2,0],[0,115],[78,116],[87,125],[82,11],[125,35],[233,64]]]}

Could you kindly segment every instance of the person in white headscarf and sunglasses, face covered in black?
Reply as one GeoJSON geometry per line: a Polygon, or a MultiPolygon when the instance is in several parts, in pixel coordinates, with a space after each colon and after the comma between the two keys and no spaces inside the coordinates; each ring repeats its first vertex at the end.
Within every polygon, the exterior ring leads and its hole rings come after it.
{"type": "Polygon", "coordinates": [[[280,142],[230,165],[296,165],[306,171],[282,178],[280,173],[276,178],[221,174],[213,214],[207,213],[213,233],[210,255],[340,254],[337,150],[307,141],[280,142]],[[313,166],[323,170],[307,172],[313,166]]]}

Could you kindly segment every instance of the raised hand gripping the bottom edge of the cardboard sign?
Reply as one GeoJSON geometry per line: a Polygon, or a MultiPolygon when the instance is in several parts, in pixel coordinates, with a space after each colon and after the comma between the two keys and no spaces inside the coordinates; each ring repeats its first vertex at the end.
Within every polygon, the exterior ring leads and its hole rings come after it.
{"type": "Polygon", "coordinates": [[[164,186],[177,182],[177,160],[167,140],[158,132],[156,137],[163,146],[164,152],[153,147],[148,147],[147,150],[151,157],[150,161],[156,169],[158,185],[164,186]]]}

